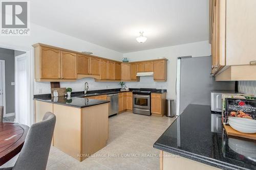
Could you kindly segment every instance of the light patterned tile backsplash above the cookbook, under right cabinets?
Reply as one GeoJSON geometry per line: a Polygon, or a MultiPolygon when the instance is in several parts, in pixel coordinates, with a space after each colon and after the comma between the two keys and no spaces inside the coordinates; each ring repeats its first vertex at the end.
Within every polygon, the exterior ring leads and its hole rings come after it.
{"type": "Polygon", "coordinates": [[[256,81],[239,81],[239,92],[256,96],[256,81]]]}

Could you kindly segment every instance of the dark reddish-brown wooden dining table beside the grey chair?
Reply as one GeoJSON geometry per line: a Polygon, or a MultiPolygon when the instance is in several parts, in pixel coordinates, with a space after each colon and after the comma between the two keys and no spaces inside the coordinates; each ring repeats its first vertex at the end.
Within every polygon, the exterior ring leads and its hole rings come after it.
{"type": "Polygon", "coordinates": [[[22,150],[28,131],[23,124],[0,123],[0,166],[22,150]]]}

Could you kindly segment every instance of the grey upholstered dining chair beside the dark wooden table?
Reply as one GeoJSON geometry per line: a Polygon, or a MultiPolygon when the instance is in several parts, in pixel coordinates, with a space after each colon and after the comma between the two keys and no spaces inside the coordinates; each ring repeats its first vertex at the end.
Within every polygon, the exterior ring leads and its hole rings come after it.
{"type": "Polygon", "coordinates": [[[1,170],[45,170],[51,148],[52,136],[56,117],[47,112],[41,122],[33,124],[25,139],[13,167],[0,168],[1,170]]]}

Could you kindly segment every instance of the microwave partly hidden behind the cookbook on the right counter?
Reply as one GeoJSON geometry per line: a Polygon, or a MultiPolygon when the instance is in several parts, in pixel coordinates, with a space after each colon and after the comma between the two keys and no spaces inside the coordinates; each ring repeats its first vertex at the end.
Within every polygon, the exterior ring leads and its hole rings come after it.
{"type": "Polygon", "coordinates": [[[222,94],[236,94],[234,91],[212,90],[210,94],[210,109],[214,112],[222,112],[222,94]]]}

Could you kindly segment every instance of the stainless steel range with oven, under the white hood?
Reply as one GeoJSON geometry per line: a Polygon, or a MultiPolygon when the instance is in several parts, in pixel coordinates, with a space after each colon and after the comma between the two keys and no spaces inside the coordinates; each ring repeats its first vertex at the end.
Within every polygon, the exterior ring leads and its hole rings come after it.
{"type": "Polygon", "coordinates": [[[156,91],[155,88],[141,88],[133,90],[133,113],[151,115],[151,92],[156,91]]]}

